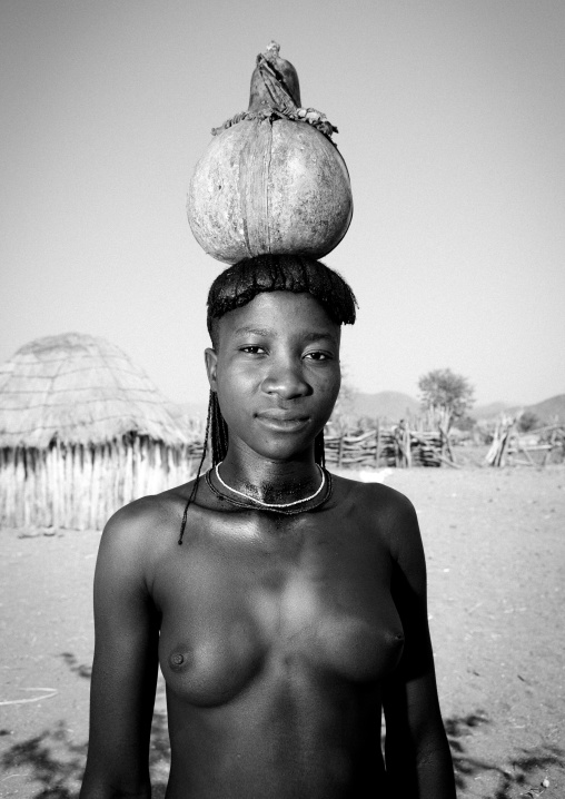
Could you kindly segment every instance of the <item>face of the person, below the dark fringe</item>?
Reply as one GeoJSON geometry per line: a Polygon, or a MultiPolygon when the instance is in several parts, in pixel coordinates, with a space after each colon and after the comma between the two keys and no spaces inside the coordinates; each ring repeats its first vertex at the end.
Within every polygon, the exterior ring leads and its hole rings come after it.
{"type": "Polygon", "coordinates": [[[339,392],[339,338],[310,294],[258,294],[225,314],[206,365],[230,446],[271,460],[311,447],[339,392]]]}

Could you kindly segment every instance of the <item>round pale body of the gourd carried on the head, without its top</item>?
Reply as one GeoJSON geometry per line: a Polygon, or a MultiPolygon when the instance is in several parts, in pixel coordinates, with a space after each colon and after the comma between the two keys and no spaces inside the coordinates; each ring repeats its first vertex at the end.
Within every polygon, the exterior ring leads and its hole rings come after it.
{"type": "Polygon", "coordinates": [[[198,161],[187,211],[200,246],[226,264],[266,253],[321,258],[349,227],[349,175],[314,126],[244,120],[216,136],[198,161]]]}

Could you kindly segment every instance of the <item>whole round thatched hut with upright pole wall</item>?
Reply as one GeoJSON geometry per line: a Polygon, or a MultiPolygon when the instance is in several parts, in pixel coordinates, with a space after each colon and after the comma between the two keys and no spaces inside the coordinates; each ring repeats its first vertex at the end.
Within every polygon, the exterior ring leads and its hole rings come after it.
{"type": "Polygon", "coordinates": [[[39,338],[0,366],[0,524],[101,529],[189,479],[197,447],[131,359],[102,338],[39,338]]]}

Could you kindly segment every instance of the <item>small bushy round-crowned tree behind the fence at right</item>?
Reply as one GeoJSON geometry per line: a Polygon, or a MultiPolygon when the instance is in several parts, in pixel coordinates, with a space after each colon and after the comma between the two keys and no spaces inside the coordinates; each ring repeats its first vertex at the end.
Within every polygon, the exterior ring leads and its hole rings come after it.
{"type": "Polygon", "coordinates": [[[446,433],[474,402],[474,388],[468,379],[452,369],[432,369],[419,378],[418,388],[423,406],[438,414],[446,433]]]}

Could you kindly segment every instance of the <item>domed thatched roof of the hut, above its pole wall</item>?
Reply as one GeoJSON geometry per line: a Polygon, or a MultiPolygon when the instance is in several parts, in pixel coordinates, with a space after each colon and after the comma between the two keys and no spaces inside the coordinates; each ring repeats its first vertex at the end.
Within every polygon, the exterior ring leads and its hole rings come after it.
{"type": "Polygon", "coordinates": [[[103,338],[38,338],[0,366],[0,446],[101,444],[127,433],[186,443],[166,403],[145,372],[103,338]]]}

